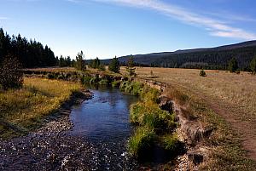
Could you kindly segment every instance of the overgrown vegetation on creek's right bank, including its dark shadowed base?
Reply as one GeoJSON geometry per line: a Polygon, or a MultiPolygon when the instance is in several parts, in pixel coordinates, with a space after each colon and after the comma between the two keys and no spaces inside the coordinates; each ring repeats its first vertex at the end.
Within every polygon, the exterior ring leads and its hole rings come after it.
{"type": "Polygon", "coordinates": [[[173,170],[175,158],[183,155],[185,148],[177,139],[175,114],[160,107],[160,90],[135,81],[122,82],[119,88],[141,99],[130,110],[135,125],[127,145],[131,155],[145,167],[173,170]]]}

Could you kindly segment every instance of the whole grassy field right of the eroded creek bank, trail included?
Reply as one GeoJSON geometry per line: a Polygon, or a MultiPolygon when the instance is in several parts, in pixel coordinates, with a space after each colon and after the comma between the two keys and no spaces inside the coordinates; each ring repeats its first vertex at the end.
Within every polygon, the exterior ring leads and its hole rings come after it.
{"type": "MultiPolygon", "coordinates": [[[[125,73],[125,68],[121,71],[125,73]]],[[[256,160],[256,77],[229,71],[206,71],[207,77],[200,77],[199,72],[137,67],[139,78],[166,83],[164,93],[168,96],[183,94],[189,112],[216,128],[207,142],[214,157],[205,169],[253,169],[256,164],[250,159],[256,160]]]]}

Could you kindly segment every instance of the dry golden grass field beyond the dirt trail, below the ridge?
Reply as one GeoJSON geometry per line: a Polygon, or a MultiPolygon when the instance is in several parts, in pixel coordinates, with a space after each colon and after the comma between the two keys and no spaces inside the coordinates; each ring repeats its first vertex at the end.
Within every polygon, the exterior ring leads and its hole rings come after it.
{"type": "Polygon", "coordinates": [[[183,86],[256,117],[256,77],[247,72],[206,71],[207,77],[200,77],[200,70],[137,67],[138,77],[152,77],[150,71],[156,81],[183,86]]]}

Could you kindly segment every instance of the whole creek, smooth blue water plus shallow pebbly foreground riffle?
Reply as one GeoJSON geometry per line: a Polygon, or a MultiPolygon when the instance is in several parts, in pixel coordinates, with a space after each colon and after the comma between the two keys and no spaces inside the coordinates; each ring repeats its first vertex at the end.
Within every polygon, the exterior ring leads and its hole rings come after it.
{"type": "Polygon", "coordinates": [[[0,142],[0,170],[137,170],[127,152],[129,107],[137,100],[115,88],[63,107],[43,128],[0,142]]]}

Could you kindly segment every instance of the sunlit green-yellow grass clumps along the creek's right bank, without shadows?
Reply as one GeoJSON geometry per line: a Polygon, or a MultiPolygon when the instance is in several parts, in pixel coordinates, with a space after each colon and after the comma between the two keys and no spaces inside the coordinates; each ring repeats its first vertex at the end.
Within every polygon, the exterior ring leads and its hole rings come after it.
{"type": "Polygon", "coordinates": [[[166,151],[172,151],[177,145],[177,136],[172,135],[177,123],[174,115],[161,110],[157,104],[160,92],[155,88],[148,88],[142,83],[121,83],[120,88],[125,92],[140,94],[142,101],[131,105],[130,120],[137,125],[137,130],[129,140],[131,155],[142,157],[152,152],[154,145],[162,145],[166,151]],[[154,135],[154,136],[153,136],[154,135]],[[153,139],[154,137],[154,139],[153,139]]]}

